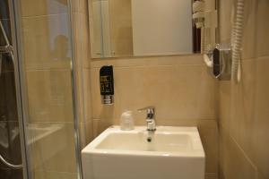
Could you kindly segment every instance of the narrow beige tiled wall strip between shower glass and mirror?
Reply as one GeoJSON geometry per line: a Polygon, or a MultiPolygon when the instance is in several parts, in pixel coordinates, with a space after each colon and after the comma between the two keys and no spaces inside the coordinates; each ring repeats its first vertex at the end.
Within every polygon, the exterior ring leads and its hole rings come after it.
{"type": "Polygon", "coordinates": [[[74,0],[72,10],[77,109],[81,148],[92,140],[90,30],[87,0],[74,0]]]}

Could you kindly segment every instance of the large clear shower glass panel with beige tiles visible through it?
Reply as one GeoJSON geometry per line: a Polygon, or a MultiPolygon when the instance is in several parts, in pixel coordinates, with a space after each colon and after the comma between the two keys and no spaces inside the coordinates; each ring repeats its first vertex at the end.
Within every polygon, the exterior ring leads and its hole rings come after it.
{"type": "Polygon", "coordinates": [[[69,1],[13,5],[28,178],[79,178],[69,1]]]}

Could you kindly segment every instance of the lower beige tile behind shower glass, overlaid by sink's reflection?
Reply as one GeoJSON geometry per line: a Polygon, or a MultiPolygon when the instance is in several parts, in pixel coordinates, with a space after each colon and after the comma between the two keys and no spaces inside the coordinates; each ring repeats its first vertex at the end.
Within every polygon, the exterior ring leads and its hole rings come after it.
{"type": "Polygon", "coordinates": [[[35,123],[30,124],[27,130],[31,136],[29,152],[30,164],[33,170],[77,172],[74,150],[74,124],[35,123]],[[42,135],[43,133],[41,132],[44,131],[47,132],[45,133],[46,135],[42,135]]]}

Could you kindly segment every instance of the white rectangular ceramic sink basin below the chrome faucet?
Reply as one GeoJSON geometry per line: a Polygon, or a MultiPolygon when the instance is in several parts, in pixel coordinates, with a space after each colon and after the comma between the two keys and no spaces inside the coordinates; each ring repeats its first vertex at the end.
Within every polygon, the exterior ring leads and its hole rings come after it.
{"type": "Polygon", "coordinates": [[[204,149],[196,127],[109,127],[82,149],[84,179],[204,179],[204,149]]]}

